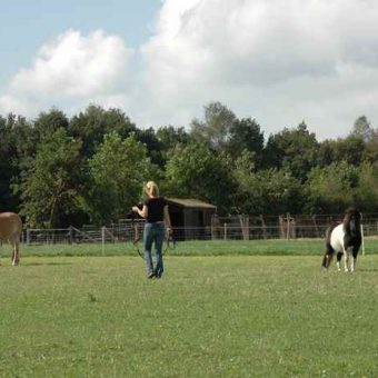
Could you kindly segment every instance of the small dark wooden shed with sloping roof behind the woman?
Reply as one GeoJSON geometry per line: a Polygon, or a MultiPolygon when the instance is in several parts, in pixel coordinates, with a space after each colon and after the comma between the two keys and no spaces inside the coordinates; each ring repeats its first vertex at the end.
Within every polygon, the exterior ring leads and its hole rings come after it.
{"type": "Polygon", "coordinates": [[[177,239],[201,239],[211,230],[217,207],[198,199],[167,198],[177,239]]]}

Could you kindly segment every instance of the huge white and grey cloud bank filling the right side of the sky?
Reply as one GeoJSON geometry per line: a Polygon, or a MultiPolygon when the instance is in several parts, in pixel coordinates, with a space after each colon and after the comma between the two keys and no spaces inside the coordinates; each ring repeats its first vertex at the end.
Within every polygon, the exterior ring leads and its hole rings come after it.
{"type": "Polygon", "coordinates": [[[361,113],[378,119],[377,20],[374,0],[166,0],[141,48],[151,109],[175,121],[220,100],[267,132],[305,119],[346,135],[361,113]]]}

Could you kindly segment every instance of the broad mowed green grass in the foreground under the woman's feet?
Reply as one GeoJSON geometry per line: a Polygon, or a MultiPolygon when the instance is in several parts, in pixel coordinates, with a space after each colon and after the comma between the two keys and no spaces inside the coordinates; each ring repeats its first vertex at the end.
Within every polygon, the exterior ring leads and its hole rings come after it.
{"type": "Polygon", "coordinates": [[[148,280],[139,257],[2,259],[0,376],[378,376],[378,256],[165,262],[148,280]]]}

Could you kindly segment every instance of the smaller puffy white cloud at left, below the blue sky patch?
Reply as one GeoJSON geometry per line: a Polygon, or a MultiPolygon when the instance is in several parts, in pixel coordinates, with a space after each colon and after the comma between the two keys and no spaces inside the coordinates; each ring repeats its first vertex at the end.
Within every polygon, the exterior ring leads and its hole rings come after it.
{"type": "Polygon", "coordinates": [[[120,37],[102,30],[88,36],[68,30],[43,44],[32,66],[13,77],[0,97],[0,109],[29,116],[32,109],[115,97],[129,84],[127,68],[132,56],[120,37]]]}

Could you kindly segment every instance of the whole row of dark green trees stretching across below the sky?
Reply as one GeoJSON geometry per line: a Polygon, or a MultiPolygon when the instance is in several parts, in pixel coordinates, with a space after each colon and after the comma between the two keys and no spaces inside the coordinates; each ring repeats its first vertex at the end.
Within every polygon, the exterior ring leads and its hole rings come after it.
{"type": "Polygon", "coordinates": [[[125,218],[147,180],[166,197],[197,198],[219,215],[378,210],[378,130],[365,116],[345,138],[318,141],[305,121],[265,138],[220,102],[185,127],[139,129],[120,109],[0,116],[0,211],[32,227],[125,218]]]}

